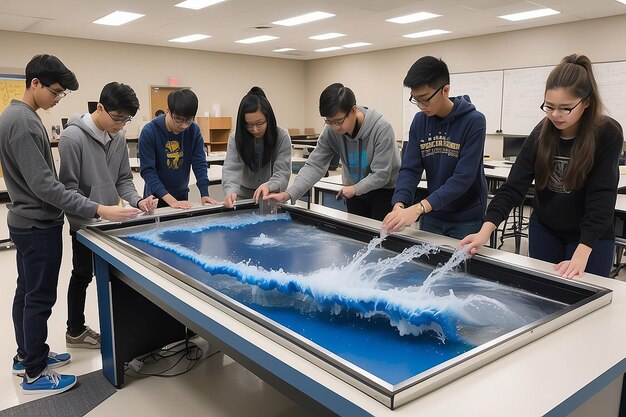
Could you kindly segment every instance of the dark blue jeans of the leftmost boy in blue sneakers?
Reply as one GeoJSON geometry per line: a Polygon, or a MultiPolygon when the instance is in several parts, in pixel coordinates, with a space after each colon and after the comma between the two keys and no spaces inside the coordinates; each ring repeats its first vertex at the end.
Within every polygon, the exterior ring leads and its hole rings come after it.
{"type": "Polygon", "coordinates": [[[50,347],[48,318],[57,299],[63,255],[63,226],[20,229],[9,226],[15,245],[17,288],[13,299],[13,327],[17,354],[29,377],[46,367],[50,347]]]}

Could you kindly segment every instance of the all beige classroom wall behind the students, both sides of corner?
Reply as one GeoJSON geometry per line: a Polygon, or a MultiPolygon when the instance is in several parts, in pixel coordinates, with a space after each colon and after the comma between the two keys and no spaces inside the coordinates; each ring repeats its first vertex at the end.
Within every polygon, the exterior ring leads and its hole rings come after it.
{"type": "MultiPolygon", "coordinates": [[[[323,127],[318,113],[321,91],[333,82],[352,88],[360,104],[374,107],[391,122],[396,137],[402,134],[402,80],[411,64],[423,55],[441,57],[451,72],[468,72],[554,65],[577,52],[594,62],[626,60],[626,15],[535,29],[484,35],[425,45],[336,58],[297,61],[218,52],[141,46],[0,31],[0,67],[23,69],[36,53],[58,55],[78,76],[81,88],[54,109],[43,112],[46,126],[60,118],[86,111],[100,89],[116,80],[131,85],[143,103],[142,119],[150,118],[149,86],[165,85],[176,76],[180,85],[194,89],[199,114],[222,105],[222,115],[236,116],[239,100],[252,85],[260,85],[274,106],[283,127],[323,127]]],[[[2,72],[2,70],[0,70],[2,72]]],[[[487,138],[485,153],[501,155],[501,141],[487,138]]]]}

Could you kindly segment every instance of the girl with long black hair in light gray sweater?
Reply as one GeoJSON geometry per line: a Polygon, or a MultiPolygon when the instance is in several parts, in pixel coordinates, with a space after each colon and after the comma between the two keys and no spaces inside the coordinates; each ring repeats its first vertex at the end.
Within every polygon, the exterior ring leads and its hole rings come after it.
{"type": "Polygon", "coordinates": [[[291,176],[291,138],[276,125],[276,116],[259,87],[241,99],[237,127],[230,133],[222,169],[224,206],[237,198],[253,198],[287,189],[291,176]]]}

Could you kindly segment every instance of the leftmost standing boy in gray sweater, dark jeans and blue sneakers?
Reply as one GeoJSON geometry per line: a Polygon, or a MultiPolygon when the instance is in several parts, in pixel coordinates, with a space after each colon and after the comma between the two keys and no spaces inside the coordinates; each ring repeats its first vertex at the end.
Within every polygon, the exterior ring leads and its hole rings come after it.
{"type": "Polygon", "coordinates": [[[76,384],[76,376],[53,369],[67,364],[70,355],[51,352],[46,344],[63,252],[63,210],[112,221],[131,219],[141,210],[98,204],[59,182],[48,133],[36,112],[77,90],[78,81],[52,55],[33,57],[25,73],[22,100],[13,100],[0,116],[0,163],[11,199],[7,223],[18,273],[13,373],[22,375],[25,394],[58,394],[76,384]]]}

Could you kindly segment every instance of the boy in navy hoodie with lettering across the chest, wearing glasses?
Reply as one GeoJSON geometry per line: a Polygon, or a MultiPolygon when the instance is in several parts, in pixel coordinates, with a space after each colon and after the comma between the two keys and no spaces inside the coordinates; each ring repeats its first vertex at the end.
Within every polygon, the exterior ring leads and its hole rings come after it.
{"type": "Polygon", "coordinates": [[[448,97],[450,73],[441,59],[418,59],[404,85],[411,89],[409,101],[421,111],[411,123],[393,209],[383,229],[400,231],[421,219],[422,230],[462,239],[480,230],[487,206],[485,116],[468,96],[448,97]],[[428,196],[417,200],[424,171],[428,196]]]}

